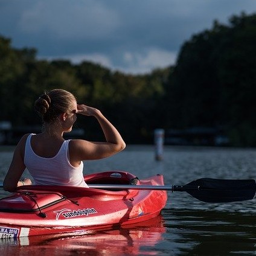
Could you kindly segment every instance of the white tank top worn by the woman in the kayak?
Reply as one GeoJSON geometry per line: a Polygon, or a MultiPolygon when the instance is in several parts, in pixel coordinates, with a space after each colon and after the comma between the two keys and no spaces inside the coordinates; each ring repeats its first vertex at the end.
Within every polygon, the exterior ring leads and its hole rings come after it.
{"type": "Polygon", "coordinates": [[[31,147],[31,136],[25,145],[24,163],[36,185],[68,185],[88,187],[83,178],[83,162],[78,167],[70,164],[68,159],[69,140],[63,142],[59,152],[53,158],[36,155],[31,147]]]}

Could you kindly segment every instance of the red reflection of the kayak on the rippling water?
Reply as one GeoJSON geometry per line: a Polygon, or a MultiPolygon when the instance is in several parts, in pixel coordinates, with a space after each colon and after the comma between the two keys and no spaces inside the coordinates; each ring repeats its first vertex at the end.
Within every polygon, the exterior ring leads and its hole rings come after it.
{"type": "Polygon", "coordinates": [[[156,255],[165,228],[162,216],[118,230],[81,236],[43,235],[0,240],[0,255],[156,255]]]}

